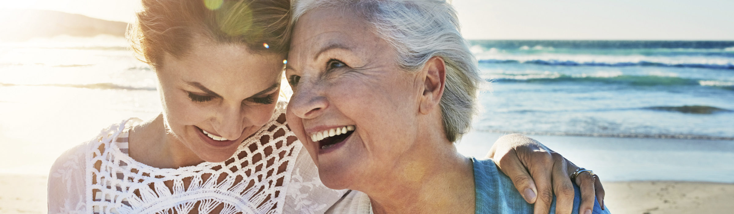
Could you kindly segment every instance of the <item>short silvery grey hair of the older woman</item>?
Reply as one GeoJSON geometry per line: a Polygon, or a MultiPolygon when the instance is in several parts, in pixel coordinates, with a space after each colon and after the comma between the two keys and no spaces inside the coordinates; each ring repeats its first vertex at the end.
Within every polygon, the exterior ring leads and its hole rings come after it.
{"type": "Polygon", "coordinates": [[[440,56],[446,63],[446,88],[440,100],[443,128],[457,141],[471,127],[482,78],[468,42],[459,32],[451,4],[437,0],[296,0],[293,23],[310,10],[353,10],[396,51],[399,66],[409,73],[440,56]]]}

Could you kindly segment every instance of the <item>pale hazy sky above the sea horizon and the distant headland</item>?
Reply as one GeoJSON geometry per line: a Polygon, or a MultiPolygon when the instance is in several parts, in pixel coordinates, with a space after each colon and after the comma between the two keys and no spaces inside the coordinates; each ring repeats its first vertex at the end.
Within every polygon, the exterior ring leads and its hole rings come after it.
{"type": "MultiPolygon", "coordinates": [[[[1,7],[131,22],[139,0],[11,0],[1,7]]],[[[734,40],[733,0],[454,0],[454,7],[468,39],[734,40]]]]}

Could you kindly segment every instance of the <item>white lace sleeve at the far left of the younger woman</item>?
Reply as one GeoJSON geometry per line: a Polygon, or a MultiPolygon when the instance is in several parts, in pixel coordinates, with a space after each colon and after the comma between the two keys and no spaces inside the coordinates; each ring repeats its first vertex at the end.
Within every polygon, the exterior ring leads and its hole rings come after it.
{"type": "Polygon", "coordinates": [[[86,213],[85,155],[89,144],[64,152],[48,173],[48,213],[86,213]]]}

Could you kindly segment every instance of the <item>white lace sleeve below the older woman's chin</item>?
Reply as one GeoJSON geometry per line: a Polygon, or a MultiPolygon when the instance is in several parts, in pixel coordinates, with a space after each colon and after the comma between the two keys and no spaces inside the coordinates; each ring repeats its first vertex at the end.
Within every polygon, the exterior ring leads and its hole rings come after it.
{"type": "Polygon", "coordinates": [[[308,151],[305,147],[300,147],[300,150],[288,184],[283,213],[324,213],[347,190],[337,191],[324,186],[319,179],[319,169],[316,169],[308,151]]]}

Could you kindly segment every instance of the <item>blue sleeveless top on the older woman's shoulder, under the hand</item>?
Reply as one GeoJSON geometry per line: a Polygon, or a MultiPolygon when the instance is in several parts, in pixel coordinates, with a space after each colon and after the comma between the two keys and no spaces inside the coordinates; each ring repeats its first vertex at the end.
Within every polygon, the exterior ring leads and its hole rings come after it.
{"type": "MultiPolygon", "coordinates": [[[[474,163],[474,188],[476,191],[476,213],[533,213],[533,204],[528,204],[523,196],[515,189],[512,180],[497,169],[490,159],[476,160],[474,163]]],[[[578,213],[581,205],[581,191],[573,184],[573,213],[578,213]]],[[[599,202],[594,200],[592,213],[609,213],[601,210],[599,202]]],[[[556,213],[556,196],[553,196],[551,213],[556,213]]]]}

